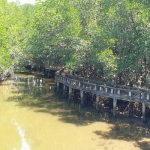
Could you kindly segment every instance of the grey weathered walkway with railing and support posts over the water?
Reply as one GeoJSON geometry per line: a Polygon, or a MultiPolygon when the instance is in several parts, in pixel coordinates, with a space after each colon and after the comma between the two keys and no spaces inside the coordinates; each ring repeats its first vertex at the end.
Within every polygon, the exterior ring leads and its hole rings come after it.
{"type": "Polygon", "coordinates": [[[63,84],[63,90],[65,90],[65,86],[69,87],[69,99],[71,98],[72,89],[80,90],[81,103],[83,103],[83,92],[95,94],[97,105],[99,103],[99,96],[112,98],[114,116],[116,115],[117,100],[142,103],[142,115],[143,119],[145,119],[145,104],[150,104],[150,91],[119,85],[108,86],[95,83],[94,81],[74,79],[73,76],[63,76],[58,73],[55,74],[55,80],[57,82],[57,91],[59,91],[59,83],[63,84]]]}

